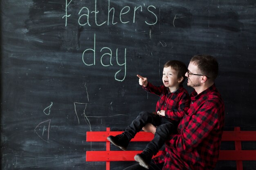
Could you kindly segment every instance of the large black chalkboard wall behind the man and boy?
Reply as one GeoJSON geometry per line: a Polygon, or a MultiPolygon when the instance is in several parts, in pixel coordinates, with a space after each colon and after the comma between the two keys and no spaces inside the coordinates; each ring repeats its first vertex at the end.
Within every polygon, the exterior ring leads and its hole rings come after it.
{"type": "Polygon", "coordinates": [[[106,147],[86,131],[124,130],[154,110],[136,75],[161,85],[166,61],[196,54],[219,62],[225,130],[256,130],[255,16],[255,0],[2,0],[1,168],[104,170],[85,162],[106,147]]]}

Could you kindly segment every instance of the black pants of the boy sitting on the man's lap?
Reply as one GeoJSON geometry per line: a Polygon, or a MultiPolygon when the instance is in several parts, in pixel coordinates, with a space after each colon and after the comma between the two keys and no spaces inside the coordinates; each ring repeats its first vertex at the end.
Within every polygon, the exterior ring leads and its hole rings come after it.
{"type": "Polygon", "coordinates": [[[151,123],[157,126],[154,139],[149,142],[144,150],[157,154],[158,150],[164,145],[164,142],[168,137],[177,129],[173,122],[149,112],[141,112],[139,116],[127,126],[125,133],[129,140],[135,137],[136,133],[139,132],[147,123],[151,123]]]}

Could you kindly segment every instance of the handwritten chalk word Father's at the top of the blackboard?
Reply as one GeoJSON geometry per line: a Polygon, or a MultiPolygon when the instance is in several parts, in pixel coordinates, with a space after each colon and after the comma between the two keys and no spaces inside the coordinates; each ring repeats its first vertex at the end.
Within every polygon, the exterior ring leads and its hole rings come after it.
{"type": "MultiPolygon", "coordinates": [[[[68,0],[66,0],[66,6],[65,6],[65,15],[62,18],[65,18],[65,26],[67,26],[67,18],[71,16],[71,14],[68,14],[67,10],[68,10],[68,6],[70,5],[70,3],[72,2],[72,0],[70,0],[68,2],[68,0]]],[[[145,6],[145,4],[144,4],[145,6]]],[[[130,22],[129,20],[125,20],[124,18],[127,17],[130,13],[132,13],[132,22],[135,23],[135,16],[137,12],[142,12],[144,9],[144,7],[142,7],[141,5],[134,7],[134,9],[131,9],[131,7],[129,6],[125,6],[123,7],[120,11],[117,11],[117,9],[115,9],[114,7],[110,7],[110,0],[108,0],[108,18],[103,21],[102,23],[98,23],[97,22],[97,14],[99,13],[99,11],[97,10],[97,0],[95,0],[95,6],[94,6],[94,11],[90,11],[90,9],[88,9],[87,7],[82,7],[79,11],[79,19],[78,19],[78,23],[80,26],[84,26],[84,25],[88,25],[91,26],[91,22],[95,22],[95,24],[97,26],[101,26],[104,24],[117,24],[117,20],[114,21],[114,16],[115,16],[115,10],[116,12],[119,12],[119,21],[122,24],[126,24],[128,22],[130,22]],[[94,14],[92,14],[94,13],[94,14]],[[90,21],[89,20],[89,16],[90,14],[94,15],[94,21],[90,21]],[[112,15],[112,16],[111,16],[112,15]],[[112,23],[110,23],[110,18],[112,18],[112,23]]],[[[146,11],[146,13],[149,13],[150,16],[152,16],[153,18],[153,22],[148,22],[147,18],[145,17],[145,23],[148,25],[154,25],[157,23],[157,15],[155,14],[154,10],[156,9],[155,6],[153,5],[149,5],[148,7],[146,7],[146,9],[144,9],[146,11]]]]}

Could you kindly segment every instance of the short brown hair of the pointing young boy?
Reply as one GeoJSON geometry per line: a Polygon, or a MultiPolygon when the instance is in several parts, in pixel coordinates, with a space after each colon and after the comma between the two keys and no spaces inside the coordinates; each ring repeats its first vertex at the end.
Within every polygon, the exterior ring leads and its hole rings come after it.
{"type": "Polygon", "coordinates": [[[164,67],[169,67],[169,66],[171,66],[171,68],[177,72],[177,78],[183,77],[183,80],[180,83],[182,84],[186,79],[185,74],[188,70],[186,67],[186,64],[178,60],[170,60],[164,64],[164,67]]]}

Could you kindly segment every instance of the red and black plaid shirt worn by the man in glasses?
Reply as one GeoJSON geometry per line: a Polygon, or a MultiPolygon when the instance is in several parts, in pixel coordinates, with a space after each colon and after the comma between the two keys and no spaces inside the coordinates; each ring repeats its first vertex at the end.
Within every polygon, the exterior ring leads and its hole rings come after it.
{"type": "Polygon", "coordinates": [[[213,170],[218,161],[224,116],[224,102],[215,84],[199,95],[193,91],[178,133],[166,142],[155,163],[164,162],[162,170],[213,170]]]}

